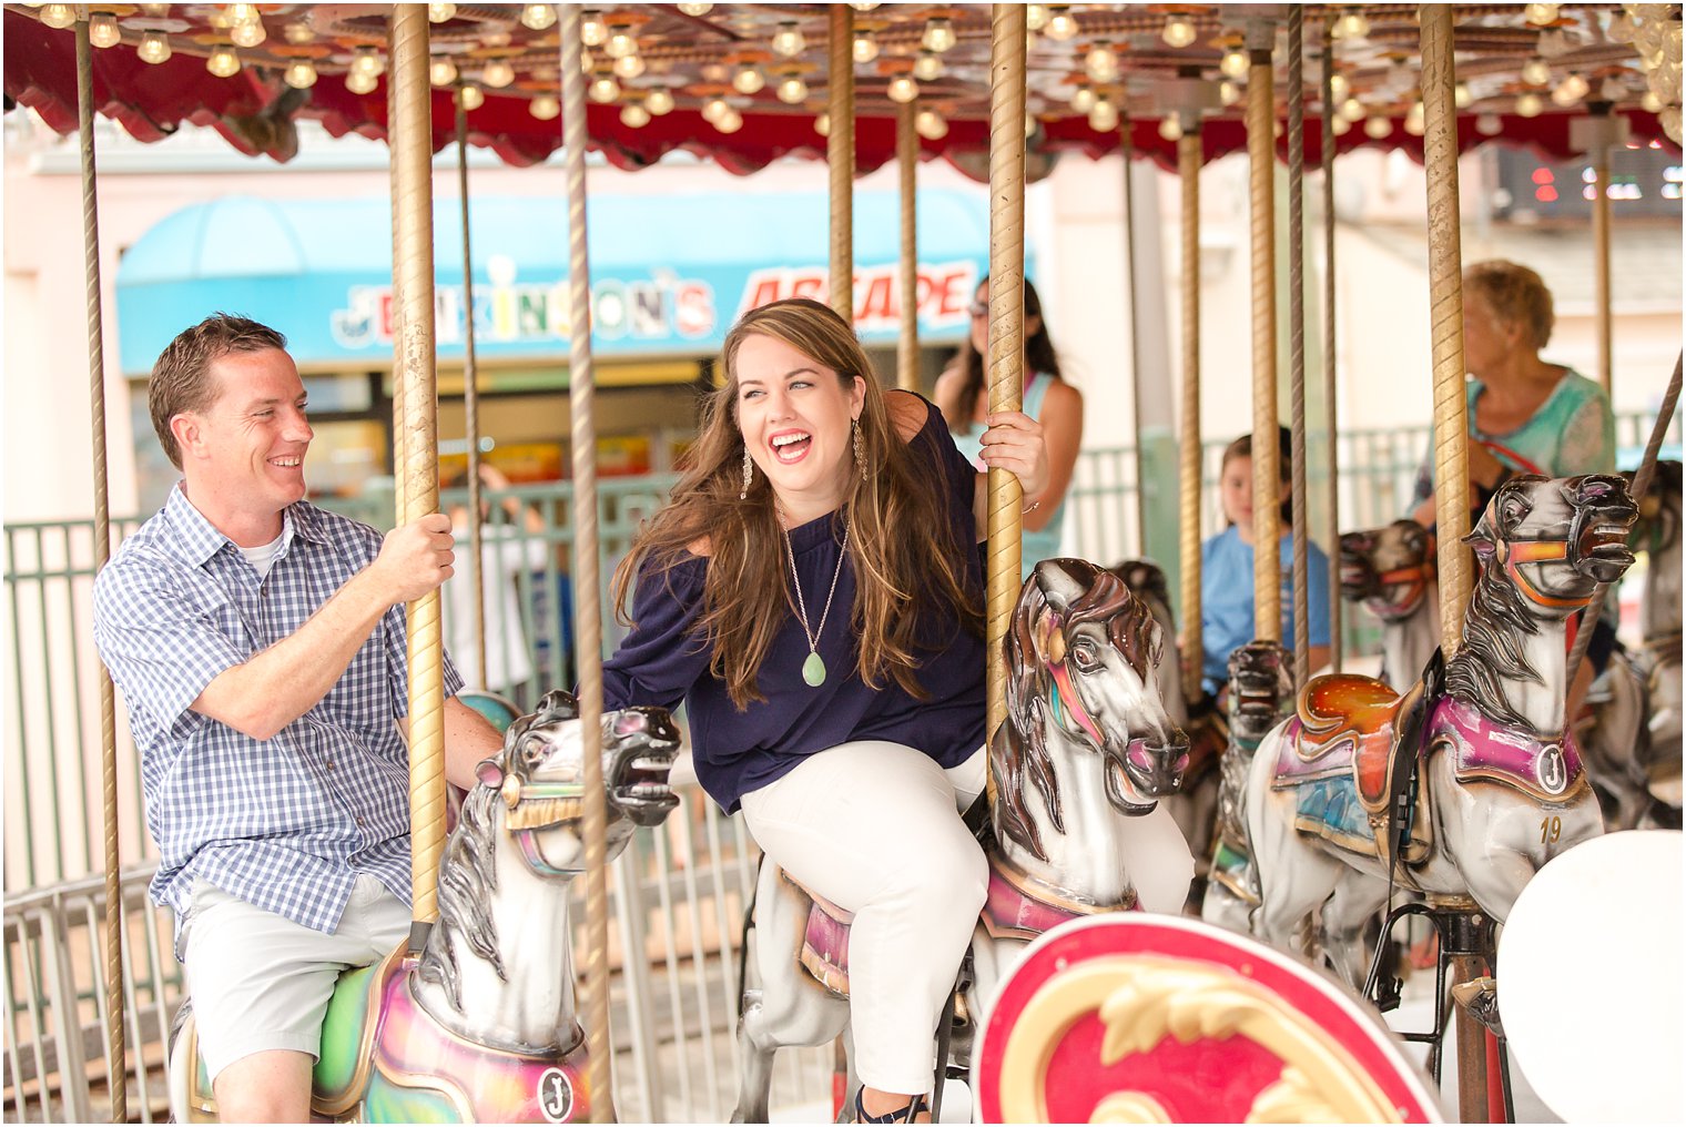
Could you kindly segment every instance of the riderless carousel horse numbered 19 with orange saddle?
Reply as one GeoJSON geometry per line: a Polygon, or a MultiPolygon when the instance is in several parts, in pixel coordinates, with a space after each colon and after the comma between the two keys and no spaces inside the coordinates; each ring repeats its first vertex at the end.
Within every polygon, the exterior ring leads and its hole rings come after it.
{"type": "Polygon", "coordinates": [[[1620,477],[1512,477],[1465,538],[1480,579],[1463,646],[1403,697],[1313,678],[1248,776],[1254,933],[1290,946],[1322,906],[1324,953],[1357,989],[1361,933],[1398,886],[1502,923],[1554,854],[1603,832],[1565,732],[1566,621],[1634,562],[1620,477]]]}

